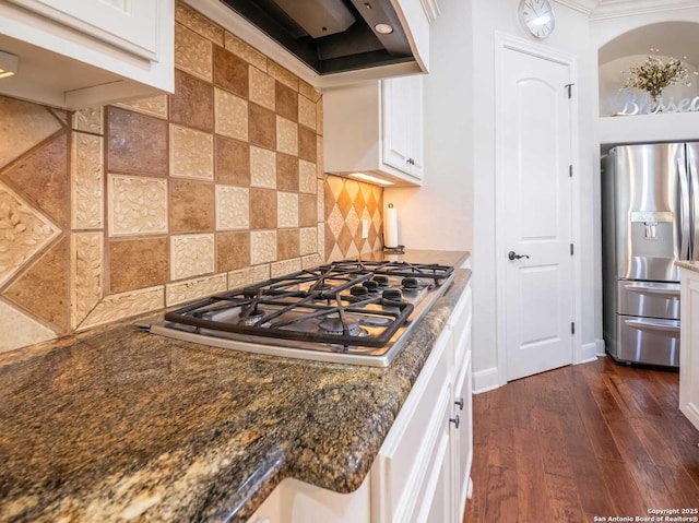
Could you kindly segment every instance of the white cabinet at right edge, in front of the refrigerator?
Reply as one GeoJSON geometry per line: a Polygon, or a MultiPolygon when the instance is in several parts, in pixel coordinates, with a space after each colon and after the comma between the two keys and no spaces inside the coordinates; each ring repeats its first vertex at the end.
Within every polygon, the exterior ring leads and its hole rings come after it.
{"type": "Polygon", "coordinates": [[[699,273],[680,270],[679,409],[699,430],[699,273]]]}

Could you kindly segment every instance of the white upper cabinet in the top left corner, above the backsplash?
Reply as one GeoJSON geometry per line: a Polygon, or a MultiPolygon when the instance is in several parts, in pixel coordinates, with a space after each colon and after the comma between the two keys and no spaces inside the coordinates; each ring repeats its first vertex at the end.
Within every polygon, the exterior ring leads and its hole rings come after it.
{"type": "Polygon", "coordinates": [[[0,94],[76,109],[174,90],[174,0],[0,0],[0,94]]]}

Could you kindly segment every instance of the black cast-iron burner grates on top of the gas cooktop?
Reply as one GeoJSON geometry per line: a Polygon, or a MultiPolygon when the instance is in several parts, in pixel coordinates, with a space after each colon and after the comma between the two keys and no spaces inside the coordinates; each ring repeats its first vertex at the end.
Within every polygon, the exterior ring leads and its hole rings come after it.
{"type": "Polygon", "coordinates": [[[343,260],[212,296],[166,313],[165,320],[265,338],[382,347],[408,320],[413,304],[377,293],[354,296],[350,289],[376,275],[419,277],[439,286],[452,273],[453,268],[438,264],[343,260]]]}

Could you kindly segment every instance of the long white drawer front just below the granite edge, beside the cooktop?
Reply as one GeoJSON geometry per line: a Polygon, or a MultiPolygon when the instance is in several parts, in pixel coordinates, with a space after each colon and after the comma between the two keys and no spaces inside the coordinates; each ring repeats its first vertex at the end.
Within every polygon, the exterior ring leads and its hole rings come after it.
{"type": "Polygon", "coordinates": [[[371,469],[375,523],[411,521],[449,404],[449,330],[438,340],[371,469]]]}

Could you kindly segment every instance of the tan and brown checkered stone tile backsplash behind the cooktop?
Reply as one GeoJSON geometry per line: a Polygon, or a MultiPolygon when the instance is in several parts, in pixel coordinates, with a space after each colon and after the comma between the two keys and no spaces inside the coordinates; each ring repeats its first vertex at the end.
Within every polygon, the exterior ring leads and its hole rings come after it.
{"type": "Polygon", "coordinates": [[[0,96],[0,352],[381,247],[382,189],[323,174],[318,91],[183,3],[175,55],[170,96],[0,96]]]}

